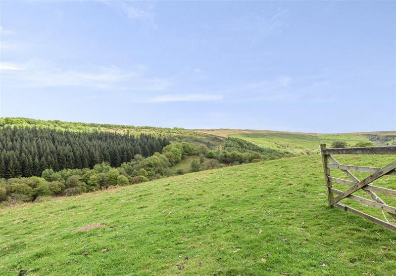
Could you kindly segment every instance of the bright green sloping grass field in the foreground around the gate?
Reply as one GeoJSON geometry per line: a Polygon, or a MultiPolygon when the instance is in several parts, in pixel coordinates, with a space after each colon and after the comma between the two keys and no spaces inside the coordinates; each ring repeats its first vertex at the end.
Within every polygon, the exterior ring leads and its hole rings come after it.
{"type": "Polygon", "coordinates": [[[328,207],[323,178],[304,156],[7,207],[0,275],[396,275],[395,233],[328,207]]]}

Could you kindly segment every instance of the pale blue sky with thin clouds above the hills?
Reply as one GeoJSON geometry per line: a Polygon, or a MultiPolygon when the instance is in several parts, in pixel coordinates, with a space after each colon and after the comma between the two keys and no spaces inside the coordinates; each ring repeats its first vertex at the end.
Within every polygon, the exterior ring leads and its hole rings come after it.
{"type": "Polygon", "coordinates": [[[396,4],[1,1],[1,115],[396,129],[396,4]]]}

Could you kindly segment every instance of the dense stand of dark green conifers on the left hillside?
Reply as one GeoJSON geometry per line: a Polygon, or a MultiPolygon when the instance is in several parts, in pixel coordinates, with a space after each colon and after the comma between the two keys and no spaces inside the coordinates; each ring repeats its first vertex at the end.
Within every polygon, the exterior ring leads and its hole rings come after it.
{"type": "Polygon", "coordinates": [[[161,135],[6,126],[0,129],[0,178],[40,176],[49,168],[93,168],[101,162],[119,167],[136,154],[149,157],[161,153],[168,144],[161,135]]]}

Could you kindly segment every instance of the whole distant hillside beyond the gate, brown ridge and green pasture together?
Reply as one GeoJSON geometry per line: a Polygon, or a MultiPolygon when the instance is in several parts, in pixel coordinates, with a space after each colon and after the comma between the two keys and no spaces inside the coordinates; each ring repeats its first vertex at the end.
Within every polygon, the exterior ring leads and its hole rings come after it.
{"type": "Polygon", "coordinates": [[[334,141],[345,141],[351,146],[359,142],[371,141],[375,145],[381,145],[396,141],[395,131],[334,134],[239,129],[197,129],[196,131],[219,137],[237,137],[261,147],[289,150],[318,150],[320,144],[330,145],[334,141]]]}

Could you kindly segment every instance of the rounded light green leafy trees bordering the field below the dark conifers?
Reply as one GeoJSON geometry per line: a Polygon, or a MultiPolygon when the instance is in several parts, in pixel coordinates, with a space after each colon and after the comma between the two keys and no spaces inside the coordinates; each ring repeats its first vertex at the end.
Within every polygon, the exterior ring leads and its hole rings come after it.
{"type": "Polygon", "coordinates": [[[175,143],[165,146],[163,154],[156,152],[149,157],[135,154],[130,161],[123,162],[116,168],[112,168],[108,162],[101,162],[92,169],[65,168],[54,171],[47,168],[41,173],[41,177],[0,178],[0,206],[48,197],[74,196],[110,186],[137,184],[171,176],[174,173],[170,166],[180,162],[182,158],[204,152],[207,152],[206,146],[175,143]],[[173,158],[172,162],[168,158],[173,158]]]}

